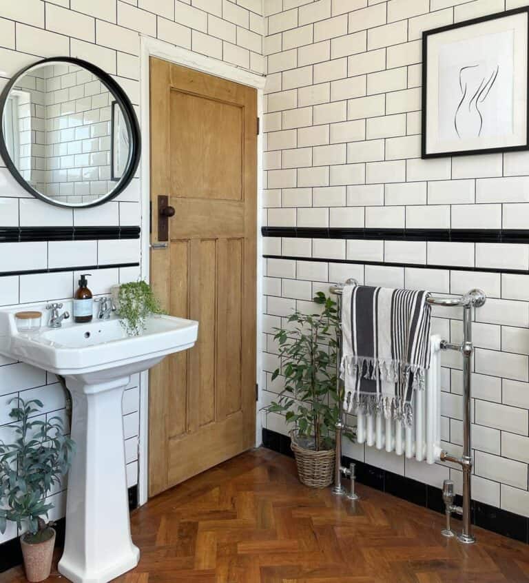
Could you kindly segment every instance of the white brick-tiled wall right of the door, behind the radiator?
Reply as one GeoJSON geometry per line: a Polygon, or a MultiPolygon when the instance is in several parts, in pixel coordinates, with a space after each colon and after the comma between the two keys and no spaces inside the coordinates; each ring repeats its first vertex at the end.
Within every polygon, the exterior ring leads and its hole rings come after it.
{"type": "MultiPolygon", "coordinates": [[[[273,170],[264,172],[271,189],[263,199],[265,224],[526,229],[527,152],[419,157],[422,31],[515,5],[521,3],[265,0],[265,144],[281,152],[273,170]]],[[[273,327],[286,324],[291,306],[309,309],[309,291],[347,277],[437,294],[486,291],[488,303],[475,311],[474,326],[473,495],[529,516],[529,275],[501,274],[529,268],[529,245],[265,237],[264,249],[290,257],[264,260],[264,404],[282,389],[271,381],[278,366],[273,327]],[[337,261],[344,259],[357,263],[337,261]]],[[[457,342],[460,320],[460,310],[436,309],[433,329],[457,342]]],[[[444,447],[460,453],[461,358],[446,353],[443,365],[444,447]]],[[[287,433],[276,413],[262,416],[265,427],[287,433]]],[[[344,448],[346,455],[436,487],[450,476],[461,491],[455,467],[404,462],[346,441],[344,448]]]]}

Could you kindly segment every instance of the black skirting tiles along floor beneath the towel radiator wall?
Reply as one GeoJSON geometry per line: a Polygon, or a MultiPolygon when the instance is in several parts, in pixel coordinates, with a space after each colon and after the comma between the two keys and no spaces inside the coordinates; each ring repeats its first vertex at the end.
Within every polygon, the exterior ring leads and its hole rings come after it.
{"type": "MultiPolygon", "coordinates": [[[[282,433],[263,428],[262,445],[267,449],[293,458],[293,453],[290,449],[290,438],[282,435],[282,433]]],[[[342,456],[342,464],[346,467],[351,462],[355,463],[356,479],[361,484],[386,492],[397,498],[402,498],[417,504],[417,506],[444,513],[442,490],[440,488],[342,456]]],[[[461,497],[456,496],[455,503],[461,504],[461,501],[461,497]]],[[[525,516],[489,506],[489,504],[484,504],[477,500],[472,500],[471,515],[472,523],[476,526],[481,526],[483,529],[526,544],[529,543],[529,518],[525,516]]],[[[457,515],[454,515],[454,518],[459,519],[457,515]]]]}

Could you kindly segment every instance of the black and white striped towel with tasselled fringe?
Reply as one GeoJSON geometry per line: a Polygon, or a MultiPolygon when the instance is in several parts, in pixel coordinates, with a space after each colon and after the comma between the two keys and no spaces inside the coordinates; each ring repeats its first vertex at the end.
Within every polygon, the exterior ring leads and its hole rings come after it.
{"type": "Polygon", "coordinates": [[[430,367],[428,292],[347,285],[342,292],[344,409],[411,425],[430,367]]]}

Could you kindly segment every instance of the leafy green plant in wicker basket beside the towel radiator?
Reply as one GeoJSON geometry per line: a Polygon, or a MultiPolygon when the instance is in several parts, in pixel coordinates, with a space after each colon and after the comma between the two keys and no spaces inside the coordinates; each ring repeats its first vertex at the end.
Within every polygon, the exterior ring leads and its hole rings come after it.
{"type": "MultiPolygon", "coordinates": [[[[340,418],[341,400],[337,393],[338,313],[336,303],[323,292],[313,298],[322,307],[319,314],[295,311],[288,329],[276,328],[284,389],[269,411],[284,413],[291,431],[292,450],[300,481],[313,488],[324,488],[333,481],[334,430],[340,418]]],[[[351,435],[344,432],[348,437],[351,435]]]]}

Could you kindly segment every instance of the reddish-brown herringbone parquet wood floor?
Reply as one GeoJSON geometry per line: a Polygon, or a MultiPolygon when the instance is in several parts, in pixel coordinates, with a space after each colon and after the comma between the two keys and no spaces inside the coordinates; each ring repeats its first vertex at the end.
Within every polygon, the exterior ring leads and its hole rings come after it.
{"type": "MultiPolygon", "coordinates": [[[[478,544],[463,546],[442,537],[442,515],[361,485],[358,492],[352,504],[307,489],[293,460],[245,453],[134,511],[141,562],[116,581],[529,582],[526,544],[476,529],[478,544]]],[[[20,583],[23,572],[0,581],[20,583]]]]}

